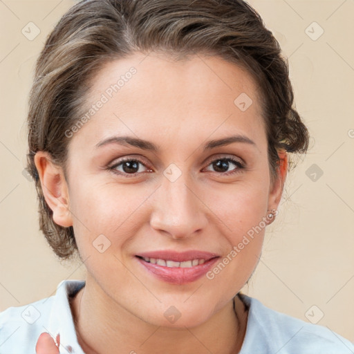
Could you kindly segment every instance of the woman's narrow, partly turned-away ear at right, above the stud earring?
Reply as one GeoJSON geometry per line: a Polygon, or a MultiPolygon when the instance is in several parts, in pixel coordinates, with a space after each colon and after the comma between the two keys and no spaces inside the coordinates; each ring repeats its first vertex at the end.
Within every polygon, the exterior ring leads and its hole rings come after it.
{"type": "Polygon", "coordinates": [[[270,193],[268,198],[268,209],[278,209],[283,194],[283,188],[288,172],[288,154],[286,151],[278,151],[279,162],[277,165],[277,177],[270,186],[270,193]]]}

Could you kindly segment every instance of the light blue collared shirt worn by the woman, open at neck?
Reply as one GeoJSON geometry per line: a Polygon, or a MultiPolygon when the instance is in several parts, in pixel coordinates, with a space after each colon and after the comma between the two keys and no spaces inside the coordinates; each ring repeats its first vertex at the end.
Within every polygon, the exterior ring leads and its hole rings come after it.
{"type": "MultiPolygon", "coordinates": [[[[60,354],[84,354],[68,300],[84,285],[64,280],[55,295],[0,313],[0,354],[35,354],[42,332],[60,333],[60,354]]],[[[241,298],[249,310],[239,354],[354,354],[354,345],[329,328],[279,313],[247,295],[241,298]]]]}

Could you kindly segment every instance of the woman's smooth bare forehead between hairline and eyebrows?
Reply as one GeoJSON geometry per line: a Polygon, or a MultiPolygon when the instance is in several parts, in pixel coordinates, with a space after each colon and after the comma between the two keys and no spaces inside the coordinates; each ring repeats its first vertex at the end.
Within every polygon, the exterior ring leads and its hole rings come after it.
{"type": "Polygon", "coordinates": [[[197,139],[232,128],[249,135],[264,131],[254,80],[220,57],[176,60],[136,53],[117,59],[93,77],[85,102],[84,111],[93,115],[77,138],[86,134],[93,143],[123,131],[150,140],[162,132],[176,137],[189,133],[197,139]]]}

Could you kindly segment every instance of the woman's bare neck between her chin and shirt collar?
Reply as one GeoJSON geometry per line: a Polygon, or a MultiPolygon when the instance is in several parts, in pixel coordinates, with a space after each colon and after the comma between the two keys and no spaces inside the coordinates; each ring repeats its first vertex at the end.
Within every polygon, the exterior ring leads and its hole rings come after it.
{"type": "Polygon", "coordinates": [[[239,353],[248,311],[235,297],[207,322],[193,328],[154,326],[86,286],[71,301],[77,341],[86,354],[239,353]]]}

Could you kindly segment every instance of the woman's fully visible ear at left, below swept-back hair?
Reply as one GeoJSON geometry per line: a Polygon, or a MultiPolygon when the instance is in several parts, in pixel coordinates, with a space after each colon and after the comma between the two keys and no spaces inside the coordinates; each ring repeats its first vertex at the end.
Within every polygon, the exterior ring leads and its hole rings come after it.
{"type": "Polygon", "coordinates": [[[53,211],[53,221],[60,226],[73,225],[73,218],[69,209],[68,185],[62,167],[53,163],[50,153],[37,151],[35,165],[41,180],[46,203],[53,211]]]}

